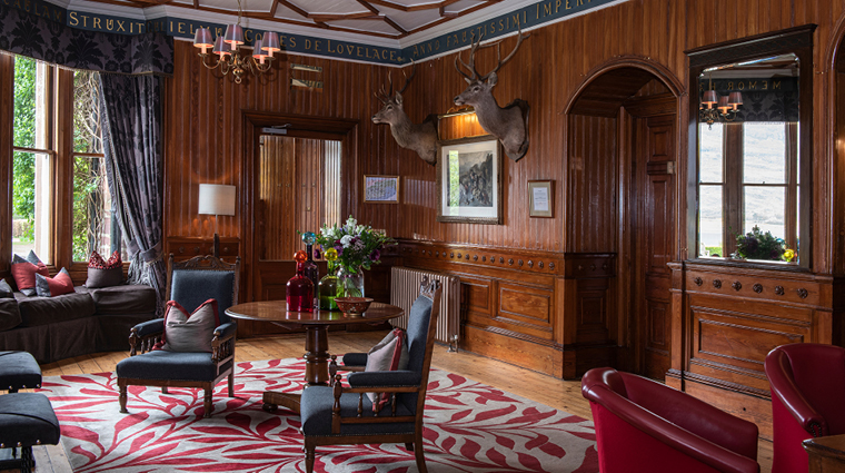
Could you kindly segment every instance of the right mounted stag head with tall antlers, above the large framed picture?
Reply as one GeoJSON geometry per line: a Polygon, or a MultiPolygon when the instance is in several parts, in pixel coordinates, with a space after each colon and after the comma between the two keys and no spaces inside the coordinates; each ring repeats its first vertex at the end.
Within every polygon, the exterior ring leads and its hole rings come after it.
{"type": "Polygon", "coordinates": [[[481,38],[484,38],[484,35],[478,37],[478,41],[473,41],[473,47],[469,49],[469,63],[465,63],[460,59],[460,55],[455,57],[455,69],[469,83],[459,96],[455,97],[455,105],[473,106],[481,128],[498,138],[508,157],[518,161],[528,150],[528,111],[530,107],[523,99],[516,99],[505,108],[499,107],[496,98],[493,97],[493,87],[498,81],[496,71],[516,55],[519,45],[523,43],[525,38],[528,38],[528,35],[523,36],[523,29],[521,27],[519,28],[516,46],[505,60],[501,60],[500,41],[483,46],[483,48],[496,46],[496,58],[498,60],[498,65],[484,76],[475,68],[475,55],[478,50],[478,45],[481,42],[481,38]],[[458,61],[471,72],[471,76],[460,69],[458,61]]]}

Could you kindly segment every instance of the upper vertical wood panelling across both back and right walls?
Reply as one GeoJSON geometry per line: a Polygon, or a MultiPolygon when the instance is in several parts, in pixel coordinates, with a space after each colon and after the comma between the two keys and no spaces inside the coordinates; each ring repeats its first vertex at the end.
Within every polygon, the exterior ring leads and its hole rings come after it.
{"type": "MultiPolygon", "coordinates": [[[[563,112],[592,70],[615,57],[633,55],[667,69],[678,82],[686,83],[686,49],[815,22],[819,24],[815,35],[816,65],[818,72],[825,72],[823,55],[833,21],[843,11],[845,2],[842,0],[632,0],[533,31],[514,59],[498,71],[495,89],[503,106],[515,98],[523,98],[531,106],[528,154],[519,162],[507,162],[504,169],[507,208],[505,224],[499,226],[436,221],[434,167],[412,151],[399,148],[389,127],[369,121],[379,108],[371,91],[386,82],[389,68],[287,56],[274,65],[274,75],[269,78],[249,78],[236,85],[229,78],[216,78],[216,71],[200,65],[190,43],[177,41],[166,119],[166,231],[171,236],[210,237],[212,220],[196,213],[197,186],[199,183],[240,184],[242,162],[249,159],[241,151],[240,110],[265,110],[360,120],[361,138],[355,150],[356,176],[344,177],[351,191],[350,211],[374,227],[386,228],[390,235],[520,249],[574,249],[577,244],[565,242],[573,231],[565,230],[566,224],[575,216],[565,214],[567,208],[573,208],[564,201],[571,198],[561,185],[567,179],[565,156],[573,152],[567,152],[567,146],[571,145],[565,139],[563,112]],[[324,91],[291,88],[291,75],[306,72],[291,72],[290,62],[322,67],[321,73],[304,77],[322,80],[324,91]],[[397,208],[402,211],[394,215],[385,213],[384,206],[362,204],[359,180],[364,174],[402,176],[404,204],[397,208]],[[560,205],[555,206],[556,218],[528,217],[529,179],[558,181],[555,199],[560,205]]],[[[514,38],[505,39],[503,50],[509,50],[514,41],[514,38]]],[[[493,49],[480,50],[478,69],[490,70],[495,60],[493,49]]],[[[446,112],[454,106],[454,97],[466,82],[453,61],[454,55],[449,55],[417,65],[417,76],[405,92],[405,109],[414,121],[421,121],[428,114],[446,112]]],[[[825,77],[818,73],[816,80],[821,82],[825,77]]],[[[819,126],[824,122],[825,88],[816,87],[816,90],[815,108],[819,111],[814,132],[822,140],[826,128],[819,126]]],[[[818,151],[816,158],[821,185],[815,228],[829,228],[831,215],[822,205],[829,196],[829,188],[821,174],[829,159],[818,151]]],[[[223,236],[240,236],[241,226],[239,216],[220,217],[223,236]]],[[[831,267],[829,236],[817,238],[814,260],[817,269],[825,272],[831,267]]]]}

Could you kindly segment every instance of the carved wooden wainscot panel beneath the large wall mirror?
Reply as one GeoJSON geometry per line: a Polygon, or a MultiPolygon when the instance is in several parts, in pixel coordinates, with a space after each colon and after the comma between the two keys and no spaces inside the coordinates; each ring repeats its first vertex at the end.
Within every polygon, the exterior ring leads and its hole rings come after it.
{"type": "Polygon", "coordinates": [[[672,369],[666,383],[755,422],[772,436],[773,348],[842,345],[842,280],[801,270],[672,263],[672,369]]]}

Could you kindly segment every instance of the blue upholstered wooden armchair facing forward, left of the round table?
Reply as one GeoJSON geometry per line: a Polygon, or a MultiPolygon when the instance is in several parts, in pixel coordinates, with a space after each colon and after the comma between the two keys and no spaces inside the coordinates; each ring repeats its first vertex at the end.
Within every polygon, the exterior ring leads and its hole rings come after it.
{"type": "Polygon", "coordinates": [[[229,378],[233,397],[236,321],[226,309],[238,304],[240,257],[231,264],[213,256],[196,256],[186,262],[168,260],[167,300],[179,303],[191,314],[210,298],[217,299],[220,325],[213,332],[211,353],[152,349],[161,341],[165,319],[145,322],[129,335],[130,357],[117,365],[120,412],[127,413],[127,386],[200,387],[205,390],[205,416],[211,416],[211,393],[223,377],[229,378]]]}

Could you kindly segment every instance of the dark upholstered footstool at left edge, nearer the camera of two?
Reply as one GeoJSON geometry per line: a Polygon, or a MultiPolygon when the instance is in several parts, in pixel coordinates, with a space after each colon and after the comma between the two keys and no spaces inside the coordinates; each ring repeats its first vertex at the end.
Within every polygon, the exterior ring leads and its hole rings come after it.
{"type": "Polygon", "coordinates": [[[61,433],[50,400],[41,393],[0,396],[0,470],[34,466],[32,445],[56,445],[61,433]],[[20,455],[18,455],[20,449],[20,455]]]}

